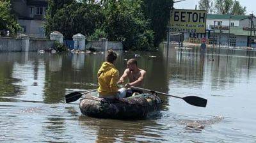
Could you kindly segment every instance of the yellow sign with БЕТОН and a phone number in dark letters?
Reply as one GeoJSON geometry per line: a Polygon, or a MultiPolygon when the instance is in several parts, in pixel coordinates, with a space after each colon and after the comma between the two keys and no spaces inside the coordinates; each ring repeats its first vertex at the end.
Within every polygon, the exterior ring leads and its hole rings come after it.
{"type": "Polygon", "coordinates": [[[175,33],[205,33],[205,10],[172,10],[170,31],[175,33]]]}

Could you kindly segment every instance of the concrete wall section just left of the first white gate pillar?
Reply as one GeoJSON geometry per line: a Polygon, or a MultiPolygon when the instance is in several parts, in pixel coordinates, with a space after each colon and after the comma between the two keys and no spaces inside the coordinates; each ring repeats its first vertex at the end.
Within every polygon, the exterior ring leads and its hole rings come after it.
{"type": "Polygon", "coordinates": [[[30,39],[29,51],[49,50],[54,46],[54,40],[47,39],[30,39]]]}

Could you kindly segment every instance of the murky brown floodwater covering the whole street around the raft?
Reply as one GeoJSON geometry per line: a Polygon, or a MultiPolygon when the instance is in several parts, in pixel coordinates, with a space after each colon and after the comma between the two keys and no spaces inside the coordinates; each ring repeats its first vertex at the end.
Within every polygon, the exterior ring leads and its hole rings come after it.
{"type": "Polygon", "coordinates": [[[145,88],[207,98],[207,107],[159,95],[155,117],[86,117],[65,94],[97,88],[105,54],[0,53],[0,142],[256,142],[255,52],[119,52],[120,73],[134,54],[145,88]]]}

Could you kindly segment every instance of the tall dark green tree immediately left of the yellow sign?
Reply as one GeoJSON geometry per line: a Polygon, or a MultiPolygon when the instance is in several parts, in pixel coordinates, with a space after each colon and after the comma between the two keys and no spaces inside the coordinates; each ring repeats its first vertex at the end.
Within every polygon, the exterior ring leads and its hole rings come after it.
{"type": "Polygon", "coordinates": [[[173,0],[143,0],[143,13],[154,31],[155,47],[166,38],[171,8],[173,8],[173,0]]]}

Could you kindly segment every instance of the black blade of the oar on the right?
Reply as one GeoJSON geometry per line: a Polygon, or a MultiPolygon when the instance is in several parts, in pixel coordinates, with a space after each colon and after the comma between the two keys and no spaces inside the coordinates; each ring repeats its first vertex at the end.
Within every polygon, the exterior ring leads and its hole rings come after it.
{"type": "Polygon", "coordinates": [[[206,107],[207,105],[207,100],[198,96],[186,96],[182,99],[190,105],[194,105],[197,107],[206,107]]]}

